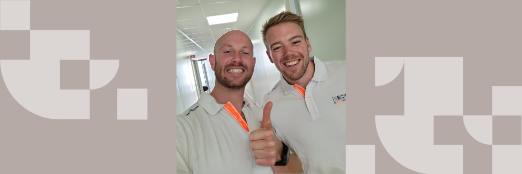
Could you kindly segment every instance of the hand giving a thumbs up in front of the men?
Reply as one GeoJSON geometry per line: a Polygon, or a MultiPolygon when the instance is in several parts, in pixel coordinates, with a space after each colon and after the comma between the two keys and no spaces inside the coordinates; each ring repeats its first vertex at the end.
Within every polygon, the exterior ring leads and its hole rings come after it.
{"type": "Polygon", "coordinates": [[[258,130],[250,133],[252,156],[256,158],[255,163],[259,166],[274,166],[277,161],[281,160],[283,144],[276,136],[272,121],[270,120],[272,105],[271,101],[266,103],[263,109],[261,126],[258,130]]]}

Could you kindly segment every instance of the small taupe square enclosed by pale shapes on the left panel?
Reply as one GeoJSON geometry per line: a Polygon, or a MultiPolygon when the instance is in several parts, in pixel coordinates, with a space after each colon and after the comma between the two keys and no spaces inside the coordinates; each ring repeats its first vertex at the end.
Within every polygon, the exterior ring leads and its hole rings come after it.
{"type": "Polygon", "coordinates": [[[60,89],[89,89],[89,60],[60,60],[60,89]]]}

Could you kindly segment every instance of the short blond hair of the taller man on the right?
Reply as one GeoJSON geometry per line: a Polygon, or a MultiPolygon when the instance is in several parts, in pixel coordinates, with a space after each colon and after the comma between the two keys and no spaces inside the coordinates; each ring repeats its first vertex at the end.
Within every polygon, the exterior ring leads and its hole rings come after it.
{"type": "Polygon", "coordinates": [[[265,47],[267,50],[268,48],[268,41],[266,40],[266,32],[270,27],[274,27],[278,24],[282,24],[284,22],[294,22],[295,24],[299,25],[301,27],[301,30],[303,31],[304,38],[306,38],[306,32],[304,31],[304,20],[301,16],[291,13],[290,11],[282,11],[281,13],[277,14],[276,16],[268,19],[265,24],[263,24],[261,29],[261,35],[263,36],[263,43],[265,43],[265,47]]]}

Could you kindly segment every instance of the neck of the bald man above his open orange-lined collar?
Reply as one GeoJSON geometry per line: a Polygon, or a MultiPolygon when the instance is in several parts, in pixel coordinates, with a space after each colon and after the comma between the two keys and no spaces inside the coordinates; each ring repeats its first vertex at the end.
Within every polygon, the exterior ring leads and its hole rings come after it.
{"type": "Polygon", "coordinates": [[[245,94],[245,87],[240,89],[231,89],[222,86],[218,82],[212,92],[210,92],[210,96],[214,97],[216,101],[220,104],[226,104],[227,102],[231,102],[232,105],[238,110],[238,112],[243,115],[243,95],[245,94]]]}

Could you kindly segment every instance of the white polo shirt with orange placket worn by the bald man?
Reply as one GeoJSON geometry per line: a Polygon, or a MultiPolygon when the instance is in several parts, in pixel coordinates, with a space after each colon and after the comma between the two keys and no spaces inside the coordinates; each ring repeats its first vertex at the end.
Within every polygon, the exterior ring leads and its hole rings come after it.
{"type": "Polygon", "coordinates": [[[177,173],[273,173],[255,164],[250,148],[250,131],[259,129],[263,110],[243,101],[246,123],[230,102],[219,104],[206,92],[177,115],[177,173]]]}

